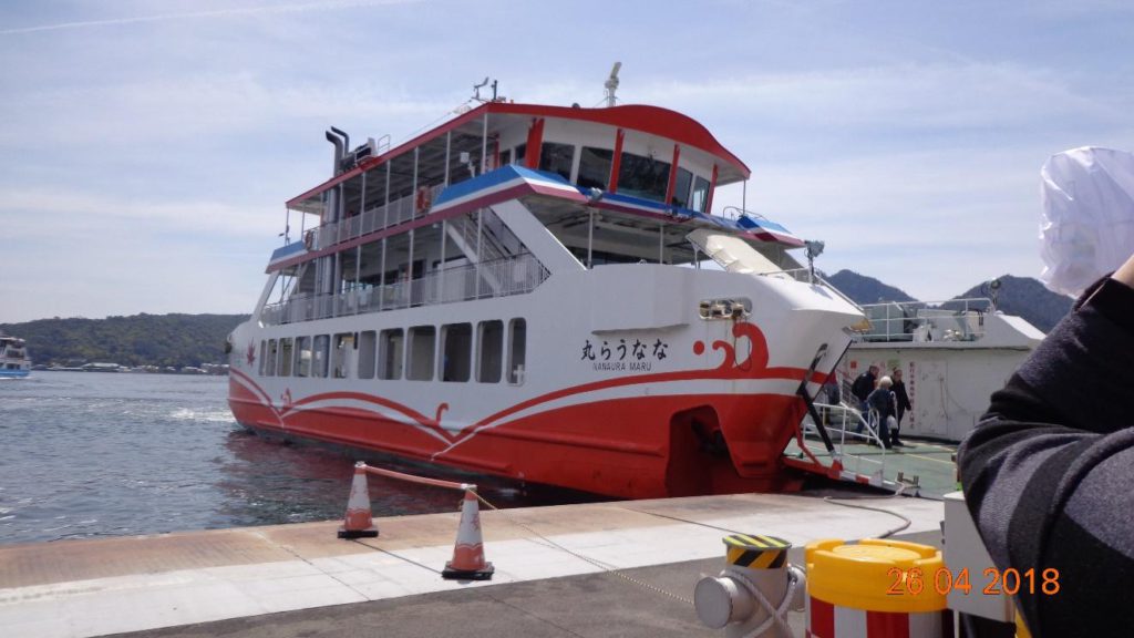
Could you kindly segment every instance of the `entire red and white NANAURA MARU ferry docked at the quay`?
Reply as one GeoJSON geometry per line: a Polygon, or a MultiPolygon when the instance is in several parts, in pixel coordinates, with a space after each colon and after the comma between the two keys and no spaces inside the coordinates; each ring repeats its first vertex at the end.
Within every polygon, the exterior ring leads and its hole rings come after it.
{"type": "Polygon", "coordinates": [[[229,336],[238,422],[616,497],[798,482],[863,314],[782,225],[713,215],[750,170],[704,126],[493,96],[396,148],[325,136],[229,336]]]}

